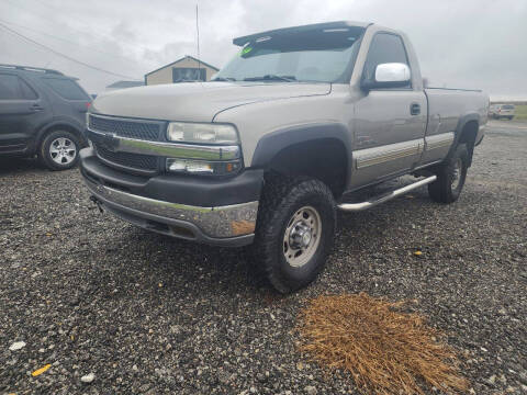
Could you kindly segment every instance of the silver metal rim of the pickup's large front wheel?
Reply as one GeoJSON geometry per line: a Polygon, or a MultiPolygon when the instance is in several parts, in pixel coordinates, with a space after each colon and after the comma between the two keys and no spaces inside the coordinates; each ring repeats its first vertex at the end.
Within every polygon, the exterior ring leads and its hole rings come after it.
{"type": "Polygon", "coordinates": [[[294,212],[283,234],[283,256],[293,268],[303,267],[315,255],[322,236],[322,221],[312,206],[294,212]]]}

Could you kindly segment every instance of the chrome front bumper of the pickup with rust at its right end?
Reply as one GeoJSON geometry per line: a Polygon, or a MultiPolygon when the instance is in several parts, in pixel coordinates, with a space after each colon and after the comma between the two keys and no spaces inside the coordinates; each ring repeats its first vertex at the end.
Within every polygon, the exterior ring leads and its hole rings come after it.
{"type": "Polygon", "coordinates": [[[134,195],[83,179],[91,194],[110,212],[149,230],[214,245],[243,246],[253,241],[257,201],[218,207],[191,206],[134,195]]]}

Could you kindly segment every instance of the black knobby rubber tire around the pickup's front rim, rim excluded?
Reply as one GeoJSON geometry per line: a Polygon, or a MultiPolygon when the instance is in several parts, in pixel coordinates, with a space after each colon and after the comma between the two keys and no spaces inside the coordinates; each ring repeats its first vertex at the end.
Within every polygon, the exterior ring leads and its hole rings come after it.
{"type": "Polygon", "coordinates": [[[250,246],[254,263],[280,293],[296,291],[310,284],[324,269],[335,228],[335,200],[322,181],[268,174],[258,210],[255,242],[250,246]],[[304,206],[315,208],[319,215],[319,240],[311,259],[301,267],[293,267],[284,256],[284,234],[292,216],[304,206]]]}

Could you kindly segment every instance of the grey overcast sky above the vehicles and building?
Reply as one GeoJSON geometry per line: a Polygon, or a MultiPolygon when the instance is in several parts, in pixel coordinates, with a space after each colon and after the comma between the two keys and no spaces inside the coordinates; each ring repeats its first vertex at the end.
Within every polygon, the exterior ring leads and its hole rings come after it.
{"type": "Polygon", "coordinates": [[[223,66],[232,38],[259,31],[351,20],[405,31],[431,86],[527,98],[525,0],[0,0],[0,24],[79,61],[30,44],[0,25],[0,63],[58,69],[90,92],[197,56],[223,66]],[[130,77],[130,78],[128,78],[130,77]]]}

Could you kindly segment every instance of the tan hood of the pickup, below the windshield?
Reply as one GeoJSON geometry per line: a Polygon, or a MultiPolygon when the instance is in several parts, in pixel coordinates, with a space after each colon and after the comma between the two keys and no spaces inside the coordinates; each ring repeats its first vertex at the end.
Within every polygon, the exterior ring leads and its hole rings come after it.
{"type": "Polygon", "coordinates": [[[244,104],[328,94],[330,83],[182,82],[130,88],[101,94],[91,111],[114,116],[211,122],[218,112],[244,104]]]}

